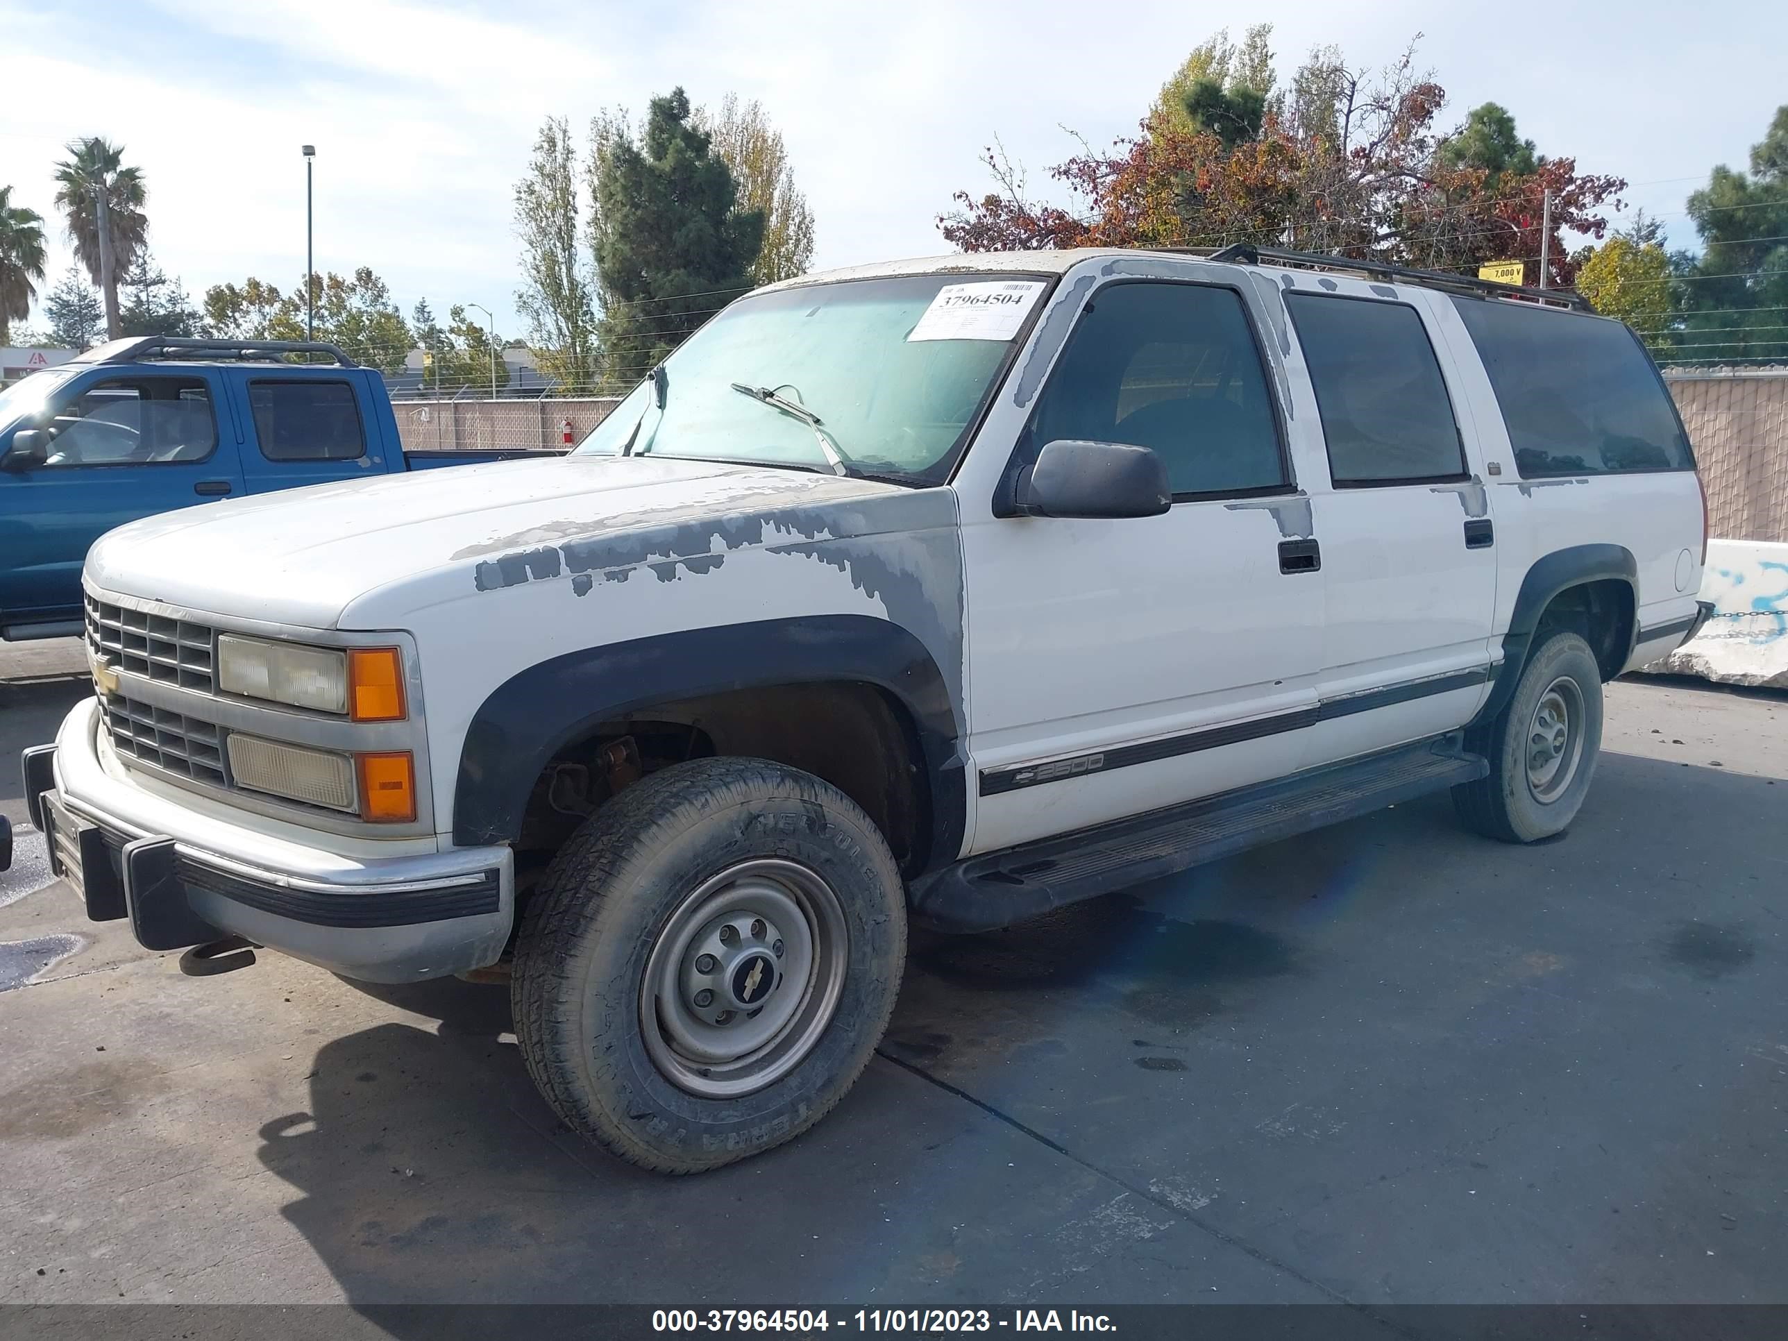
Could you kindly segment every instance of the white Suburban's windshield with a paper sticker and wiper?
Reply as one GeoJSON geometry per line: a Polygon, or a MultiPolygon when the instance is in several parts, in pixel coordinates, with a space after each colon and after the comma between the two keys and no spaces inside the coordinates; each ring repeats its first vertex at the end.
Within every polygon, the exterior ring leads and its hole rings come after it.
{"type": "Polygon", "coordinates": [[[851,474],[940,483],[1046,288],[1030,275],[901,275],[740,299],[665,359],[662,397],[647,377],[578,454],[830,474],[817,418],[851,474]]]}

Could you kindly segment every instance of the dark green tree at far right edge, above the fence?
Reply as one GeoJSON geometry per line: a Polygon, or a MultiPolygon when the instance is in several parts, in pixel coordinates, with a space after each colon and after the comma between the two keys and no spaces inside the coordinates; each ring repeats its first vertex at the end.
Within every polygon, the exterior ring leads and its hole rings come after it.
{"type": "Polygon", "coordinates": [[[1716,166],[1688,198],[1699,257],[1681,257],[1681,356],[1788,361],[1788,105],[1750,147],[1750,172],[1716,166]]]}

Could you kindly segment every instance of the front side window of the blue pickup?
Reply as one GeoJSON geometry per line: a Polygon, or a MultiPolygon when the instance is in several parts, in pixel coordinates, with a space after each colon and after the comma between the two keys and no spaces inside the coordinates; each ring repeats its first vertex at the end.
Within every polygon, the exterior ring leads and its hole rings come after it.
{"type": "Polygon", "coordinates": [[[211,392],[198,377],[116,377],[59,406],[48,468],[202,461],[218,443],[211,392]]]}

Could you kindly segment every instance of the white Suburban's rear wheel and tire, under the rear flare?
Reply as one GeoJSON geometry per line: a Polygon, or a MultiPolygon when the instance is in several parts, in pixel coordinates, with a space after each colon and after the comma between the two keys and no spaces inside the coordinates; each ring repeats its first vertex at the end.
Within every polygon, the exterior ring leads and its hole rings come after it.
{"type": "Polygon", "coordinates": [[[1454,787],[1461,822],[1500,842],[1563,833],[1602,749],[1602,669],[1590,644],[1564,629],[1548,635],[1484,730],[1482,747],[1489,776],[1454,787]]]}

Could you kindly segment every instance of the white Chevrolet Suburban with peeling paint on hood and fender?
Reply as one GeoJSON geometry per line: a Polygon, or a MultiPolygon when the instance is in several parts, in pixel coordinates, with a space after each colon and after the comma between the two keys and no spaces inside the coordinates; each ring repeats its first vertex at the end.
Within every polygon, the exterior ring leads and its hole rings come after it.
{"type": "Polygon", "coordinates": [[[150,949],[508,969],[556,1112],[697,1171],[840,1100],[908,919],[1438,789],[1557,833],[1602,683],[1706,617],[1704,531],[1573,295],[1246,247],[815,274],[567,458],[109,533],[25,790],[150,949]]]}

